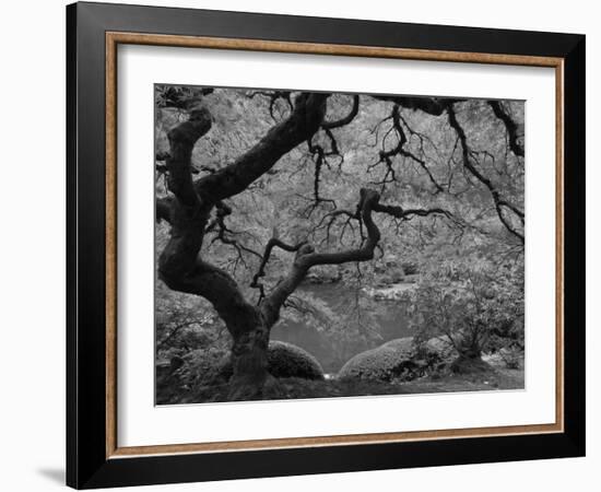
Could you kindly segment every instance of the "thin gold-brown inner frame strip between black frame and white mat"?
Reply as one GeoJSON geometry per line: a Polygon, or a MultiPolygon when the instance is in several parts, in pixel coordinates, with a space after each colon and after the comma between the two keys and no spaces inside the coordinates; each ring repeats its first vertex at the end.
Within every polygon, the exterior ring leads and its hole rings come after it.
{"type": "Polygon", "coordinates": [[[497,55],[202,36],[106,32],[106,458],[182,453],[240,452],[294,447],[343,446],[564,432],[564,60],[555,57],[497,55]],[[117,46],[119,44],[186,48],[334,55],[405,60],[547,67],[555,69],[555,422],[433,431],[287,437],[217,443],[119,447],[117,443],[117,46]]]}

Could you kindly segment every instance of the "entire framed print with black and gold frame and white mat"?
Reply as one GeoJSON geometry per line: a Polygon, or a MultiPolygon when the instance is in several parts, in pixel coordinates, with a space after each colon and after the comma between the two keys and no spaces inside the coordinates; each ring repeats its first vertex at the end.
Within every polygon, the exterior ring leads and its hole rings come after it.
{"type": "Polygon", "coordinates": [[[584,455],[585,36],[67,21],[69,485],[584,455]]]}

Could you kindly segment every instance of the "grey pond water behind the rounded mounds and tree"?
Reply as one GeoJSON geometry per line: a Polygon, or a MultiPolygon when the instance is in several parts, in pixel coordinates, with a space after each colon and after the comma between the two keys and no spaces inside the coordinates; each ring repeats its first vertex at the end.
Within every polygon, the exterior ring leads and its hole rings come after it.
{"type": "MultiPolygon", "coordinates": [[[[325,303],[329,309],[340,316],[350,326],[349,333],[332,333],[316,327],[283,319],[271,331],[273,340],[294,343],[311,353],[322,365],[326,373],[335,373],[354,354],[378,347],[389,340],[411,336],[406,319],[405,303],[394,300],[394,293],[413,288],[413,283],[396,283],[382,289],[370,289],[360,293],[362,309],[369,315],[369,336],[353,344],[352,336],[357,330],[354,311],[356,291],[343,282],[307,283],[299,291],[325,303]],[[354,329],[353,329],[354,326],[354,329]],[[349,338],[351,340],[349,340],[349,338]],[[346,341],[344,340],[346,339],[346,341]]],[[[358,338],[358,337],[357,337],[358,338]]]]}

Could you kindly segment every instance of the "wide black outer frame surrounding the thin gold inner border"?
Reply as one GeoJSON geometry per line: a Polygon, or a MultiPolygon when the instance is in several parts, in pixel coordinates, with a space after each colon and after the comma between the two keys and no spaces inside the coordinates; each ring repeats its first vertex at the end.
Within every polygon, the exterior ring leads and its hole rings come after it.
{"type": "Polygon", "coordinates": [[[66,144],[68,485],[89,489],[585,455],[585,36],[87,2],[71,4],[67,7],[66,144]],[[565,432],[107,459],[107,31],[563,58],[565,432]]]}

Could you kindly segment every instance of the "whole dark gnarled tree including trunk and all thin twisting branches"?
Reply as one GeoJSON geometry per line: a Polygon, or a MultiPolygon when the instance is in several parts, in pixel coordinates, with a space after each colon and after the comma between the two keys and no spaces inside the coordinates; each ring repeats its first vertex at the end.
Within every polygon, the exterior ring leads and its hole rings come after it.
{"type": "MultiPolygon", "coordinates": [[[[233,340],[231,399],[249,399],[261,396],[266,383],[271,377],[268,373],[267,359],[271,328],[278,321],[281,309],[286,306],[286,303],[290,304],[291,295],[306,279],[313,267],[347,262],[358,265],[374,259],[376,248],[381,249],[379,246],[380,231],[374,222],[374,213],[387,214],[405,221],[414,218],[441,216],[459,227],[464,225],[460,219],[443,208],[405,209],[398,204],[380,203],[381,191],[368,188],[360,190],[354,211],[337,209],[337,203],[333,200],[320,196],[320,183],[322,173],[330,168],[328,157],[341,156],[332,130],[344,127],[354,120],[358,114],[360,96],[353,96],[353,105],[346,116],[338,120],[326,121],[329,94],[299,93],[294,102],[287,92],[257,94],[271,97],[271,113],[273,113],[274,102],[283,98],[290,103],[290,114],[286,112],[287,117],[275,124],[255,145],[239,155],[232,164],[222,168],[202,165],[203,171],[210,169],[209,174],[197,179],[192,177],[195,173],[198,173],[191,161],[192,150],[199,139],[203,138],[212,127],[210,112],[198,106],[190,110],[186,121],[179,122],[168,132],[168,152],[162,152],[161,159],[158,156],[156,159],[164,162],[164,164],[160,164],[164,168],[162,167],[158,172],[162,173],[162,176],[166,176],[167,188],[172,194],[166,198],[157,199],[155,203],[156,220],[164,220],[170,225],[167,245],[158,259],[158,274],[169,289],[208,300],[225,323],[233,340]],[[329,150],[325,150],[313,141],[314,136],[321,130],[329,139],[329,150]],[[329,213],[322,216],[314,232],[326,227],[326,243],[328,243],[330,229],[338,218],[343,218],[345,223],[342,226],[342,235],[347,224],[351,224],[352,227],[357,225],[358,238],[355,237],[357,244],[350,248],[341,246],[340,249],[320,251],[308,242],[308,238],[296,244],[287,244],[274,234],[274,237],[266,244],[263,253],[260,254],[239,241],[239,235],[236,235],[236,232],[227,226],[225,221],[233,210],[225,200],[249,188],[255,190],[255,187],[262,185],[263,180],[259,180],[259,178],[271,173],[273,166],[284,155],[304,142],[307,142],[315,161],[314,197],[313,200],[308,199],[313,201],[313,206],[309,207],[313,207],[313,211],[321,202],[330,202],[334,209],[330,209],[329,213]],[[209,235],[211,239],[207,238],[209,235]],[[235,248],[241,261],[245,261],[244,255],[256,258],[258,269],[252,277],[250,286],[259,290],[257,304],[246,298],[245,291],[225,269],[207,260],[203,248],[207,249],[214,242],[221,242],[235,248]],[[266,286],[260,280],[266,277],[266,269],[274,248],[294,253],[295,257],[285,278],[270,292],[266,292],[266,286]]],[[[169,97],[175,96],[170,94],[169,97]]],[[[422,159],[410,149],[405,130],[411,134],[415,132],[406,122],[403,122],[400,109],[421,110],[436,117],[446,113],[450,127],[457,133],[462,166],[488,189],[502,223],[523,244],[523,234],[517,231],[506,216],[506,213],[514,213],[523,224],[523,212],[502,197],[493,181],[484,176],[472,161],[466,132],[457,120],[453,108],[453,104],[460,99],[386,95],[374,95],[373,97],[393,103],[390,115],[392,127],[389,132],[397,136],[397,142],[391,149],[382,147],[379,152],[379,162],[384,162],[387,166],[382,186],[387,179],[397,180],[392,157],[400,155],[420,165],[426,173],[435,192],[445,191],[432,172],[429,163],[426,162],[427,157],[424,153],[422,152],[424,157],[422,159]]],[[[506,115],[506,113],[504,114],[506,115]]],[[[505,125],[510,136],[507,122],[505,125]]],[[[337,134],[340,137],[339,133],[337,134]]],[[[448,186],[450,187],[450,184],[448,186]]],[[[342,241],[340,243],[342,244],[342,241]]]]}

